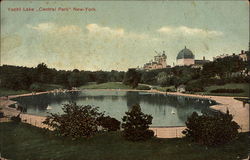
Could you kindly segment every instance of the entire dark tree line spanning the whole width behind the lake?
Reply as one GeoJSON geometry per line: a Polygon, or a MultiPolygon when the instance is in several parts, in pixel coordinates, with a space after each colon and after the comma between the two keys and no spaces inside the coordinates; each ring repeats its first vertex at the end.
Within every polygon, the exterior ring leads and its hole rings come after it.
{"type": "Polygon", "coordinates": [[[238,56],[216,59],[203,65],[175,66],[156,70],[128,69],[124,71],[56,70],[40,63],[35,68],[11,65],[0,66],[0,87],[14,90],[39,90],[41,84],[58,84],[64,88],[79,87],[88,82],[123,82],[136,88],[139,83],[175,86],[186,85],[187,91],[200,92],[209,85],[249,83],[249,64],[238,56]]]}

